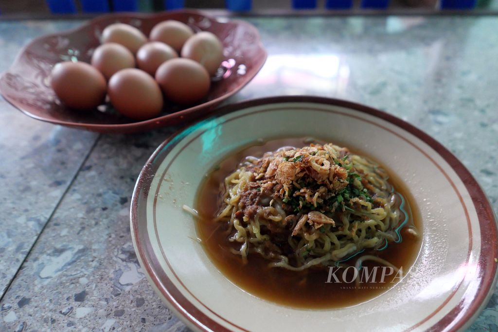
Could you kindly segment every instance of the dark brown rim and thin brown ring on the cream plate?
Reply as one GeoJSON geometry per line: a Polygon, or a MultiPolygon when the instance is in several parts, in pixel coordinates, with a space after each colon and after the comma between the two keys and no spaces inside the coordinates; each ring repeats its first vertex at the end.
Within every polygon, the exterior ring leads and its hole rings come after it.
{"type": "MultiPolygon", "coordinates": [[[[462,301],[449,314],[447,314],[439,322],[437,322],[434,326],[432,326],[431,329],[442,330],[444,328],[449,327],[452,323],[454,325],[452,327],[452,329],[454,329],[454,330],[459,329],[461,326],[463,326],[463,324],[465,324],[465,322],[470,317],[472,317],[472,315],[479,309],[482,302],[486,299],[488,292],[491,288],[491,285],[494,282],[494,277],[496,275],[496,263],[494,261],[494,257],[491,257],[491,255],[489,255],[489,254],[488,254],[488,256],[484,256],[483,253],[496,253],[496,251],[497,251],[497,228],[496,228],[496,224],[494,221],[493,211],[491,209],[491,206],[489,205],[489,202],[486,201],[482,189],[479,187],[479,185],[477,184],[475,179],[472,177],[472,175],[469,173],[469,171],[446,148],[444,148],[440,143],[435,141],[433,138],[431,138],[429,135],[422,132],[421,130],[415,128],[414,126],[406,123],[405,121],[403,121],[395,116],[384,113],[382,111],[372,109],[372,108],[367,107],[367,106],[352,103],[352,102],[335,100],[335,99],[320,98],[320,97],[302,97],[302,96],[273,97],[273,98],[265,98],[265,99],[253,100],[253,101],[243,102],[243,103],[239,103],[239,104],[235,104],[235,105],[230,105],[230,106],[227,106],[223,109],[216,111],[216,113],[217,113],[217,116],[219,116],[219,115],[223,115],[223,114],[226,114],[226,113],[229,113],[232,111],[238,111],[238,110],[246,109],[246,108],[253,107],[253,106],[260,106],[260,105],[264,105],[264,104],[275,104],[275,103],[325,104],[325,105],[350,108],[350,109],[353,109],[356,111],[368,113],[368,114],[373,115],[375,117],[386,120],[386,121],[402,128],[402,129],[410,132],[411,134],[413,134],[414,136],[418,137],[420,140],[422,140],[426,144],[428,144],[437,153],[439,153],[441,155],[441,157],[446,162],[448,162],[448,164],[453,168],[453,170],[457,173],[457,175],[460,177],[460,179],[462,180],[462,182],[466,186],[466,188],[467,188],[467,190],[468,190],[468,192],[473,200],[476,212],[479,216],[479,222],[480,222],[480,226],[481,226],[481,235],[482,235],[483,241],[481,242],[481,255],[480,255],[479,260],[478,260],[478,262],[479,262],[478,274],[481,277],[481,278],[479,278],[479,281],[482,281],[482,283],[484,283],[484,285],[483,284],[479,285],[480,287],[478,289],[478,294],[477,294],[476,298],[474,299],[474,301],[472,301],[471,305],[469,306],[469,308],[466,312],[461,314],[461,311],[465,307],[464,300],[466,300],[466,299],[465,299],[465,295],[464,295],[464,299],[462,299],[462,301]],[[483,200],[483,198],[484,198],[484,200],[483,200]],[[483,230],[484,228],[486,228],[486,230],[483,230]],[[459,314],[461,314],[461,315],[459,315],[459,314]],[[459,319],[456,322],[453,322],[454,318],[457,315],[460,316],[459,319]]],[[[263,110],[263,111],[265,111],[265,110],[263,110]]],[[[269,110],[266,110],[266,111],[269,111],[269,110]]],[[[326,110],[318,110],[318,111],[326,111],[326,110]]],[[[403,140],[405,140],[408,143],[410,143],[411,145],[413,145],[415,148],[417,148],[419,151],[421,151],[424,155],[426,155],[436,165],[436,167],[438,167],[443,172],[445,177],[452,184],[453,189],[457,192],[457,195],[459,196],[459,199],[460,199],[461,203],[463,204],[462,197],[461,197],[460,193],[458,193],[457,188],[451,182],[448,175],[442,170],[441,166],[439,166],[432,158],[430,158],[424,151],[422,151],[419,147],[415,146],[412,142],[408,141],[404,137],[400,136],[396,132],[394,132],[386,127],[383,127],[379,124],[376,124],[370,120],[363,119],[359,116],[355,116],[355,115],[351,115],[351,114],[347,114],[347,113],[342,113],[342,112],[338,112],[338,111],[326,111],[326,112],[341,113],[343,115],[353,116],[353,117],[356,117],[360,120],[370,122],[376,126],[379,126],[383,129],[385,129],[385,130],[388,130],[389,132],[397,135],[398,137],[402,138],[403,140]]],[[[132,209],[131,210],[131,227],[132,227],[132,230],[134,230],[133,234],[135,237],[135,241],[137,243],[139,255],[142,258],[144,264],[146,265],[146,267],[145,267],[146,270],[149,271],[150,277],[151,277],[151,279],[153,279],[154,284],[161,291],[161,293],[166,297],[166,299],[168,299],[170,304],[173,305],[173,307],[175,307],[187,320],[194,323],[198,327],[219,330],[220,326],[217,322],[214,322],[209,317],[204,315],[202,312],[199,312],[199,310],[192,303],[190,303],[181,293],[179,294],[178,297],[172,297],[172,294],[170,294],[168,292],[168,290],[170,290],[170,289],[167,288],[165,285],[163,285],[161,283],[161,280],[165,281],[168,285],[172,286],[172,290],[174,290],[175,293],[179,292],[179,291],[171,283],[171,280],[169,280],[169,278],[165,275],[164,271],[162,271],[162,269],[160,269],[160,266],[158,265],[157,258],[155,257],[155,254],[152,250],[150,242],[148,241],[147,231],[144,231],[144,233],[142,233],[142,234],[138,234],[138,216],[137,216],[138,204],[137,204],[137,200],[140,199],[140,201],[142,203],[146,201],[146,197],[148,196],[148,190],[150,189],[150,184],[152,182],[152,178],[153,178],[155,172],[157,171],[158,165],[162,160],[164,160],[164,158],[171,151],[171,149],[181,140],[181,139],[179,139],[175,142],[172,142],[172,139],[177,137],[178,133],[180,133],[180,132],[182,132],[182,130],[178,131],[173,136],[171,136],[169,139],[167,139],[165,142],[163,142],[156,149],[156,151],[152,154],[152,156],[149,158],[146,165],[144,166],[144,168],[143,168],[143,170],[138,178],[137,184],[135,186],[134,194],[133,194],[133,201],[134,201],[133,203],[134,204],[132,204],[132,207],[131,207],[131,209],[132,209]],[[169,143],[173,143],[173,144],[169,144],[169,143]],[[168,146],[168,144],[169,144],[169,146],[168,146]],[[167,148],[164,149],[165,147],[167,147],[167,148]],[[140,195],[140,192],[142,190],[144,190],[143,195],[140,195]],[[146,241],[144,241],[144,243],[146,243],[146,248],[145,248],[146,251],[144,251],[143,246],[138,245],[138,243],[141,242],[141,241],[139,241],[140,237],[143,237],[146,240],[146,241]],[[149,261],[147,261],[147,259],[149,261]],[[151,263],[150,260],[152,260],[152,264],[150,264],[151,263]],[[159,269],[155,269],[157,271],[153,271],[152,266],[156,266],[156,267],[159,266],[159,269]],[[160,274],[160,276],[156,275],[156,273],[160,274]],[[158,277],[161,277],[161,279],[159,279],[158,277]],[[162,277],[166,277],[166,279],[162,279],[162,277]],[[179,301],[179,300],[181,300],[180,302],[183,303],[183,305],[184,305],[183,307],[178,306],[177,301],[179,301]],[[208,324],[208,326],[204,325],[204,324],[203,325],[196,324],[196,321],[193,320],[192,317],[190,317],[190,314],[188,313],[188,312],[194,313],[194,311],[195,311],[195,314],[200,313],[199,319],[202,322],[205,322],[206,324],[208,324]]],[[[176,156],[174,158],[176,158],[176,156]]],[[[168,167],[169,167],[169,165],[168,165],[168,167]]],[[[463,204],[463,208],[467,213],[467,209],[466,209],[464,204],[463,204]]],[[[141,223],[144,223],[146,221],[145,211],[144,211],[144,209],[141,209],[141,210],[142,211],[140,213],[140,215],[141,215],[140,217],[143,217],[143,218],[140,218],[140,220],[141,220],[141,223]]],[[[467,221],[468,221],[469,232],[471,234],[472,229],[470,229],[470,221],[468,219],[468,215],[466,217],[467,217],[467,221]]],[[[155,215],[154,215],[154,226],[155,226],[155,215]]],[[[146,223],[145,223],[145,230],[146,230],[146,223]]],[[[156,233],[156,236],[157,236],[157,233],[156,233]]],[[[162,252],[161,246],[160,246],[160,249],[162,252]]],[[[472,249],[472,238],[469,238],[469,249],[470,250],[472,249]]],[[[163,252],[162,252],[162,254],[164,255],[163,252]]],[[[470,254],[470,251],[469,251],[469,254],[470,254]]],[[[469,254],[468,254],[467,258],[469,258],[469,254]]],[[[164,258],[169,266],[169,262],[168,262],[167,258],[165,256],[164,256],[164,258]]],[[[170,269],[171,269],[171,266],[170,266],[170,269]]],[[[174,271],[172,269],[171,269],[171,271],[176,276],[176,274],[174,273],[174,271]]],[[[177,277],[177,279],[178,279],[178,277],[177,277]]],[[[460,285],[462,284],[462,281],[460,282],[458,287],[460,287],[460,285]]],[[[179,282],[181,285],[183,285],[183,283],[181,281],[179,281],[179,282]]],[[[416,324],[414,327],[410,328],[410,330],[420,326],[421,324],[425,323],[427,320],[432,318],[440,309],[442,309],[442,307],[444,307],[444,305],[451,299],[451,297],[453,297],[455,295],[457,290],[458,290],[458,288],[455,289],[452,292],[452,294],[450,294],[450,297],[445,301],[445,303],[440,308],[438,308],[434,313],[429,315],[429,317],[427,317],[426,319],[424,319],[420,323],[416,324]]],[[[188,292],[190,293],[190,291],[188,291],[188,292]]],[[[202,304],[202,305],[205,306],[204,304],[202,304]]],[[[210,310],[210,309],[208,308],[208,310],[210,310]]],[[[213,314],[215,314],[216,316],[221,318],[216,313],[213,313],[213,314]]],[[[223,318],[221,318],[221,319],[223,319],[223,318]]],[[[225,320],[225,319],[223,319],[223,320],[225,322],[231,324],[232,326],[241,329],[240,327],[228,322],[227,320],[225,320]]]]}

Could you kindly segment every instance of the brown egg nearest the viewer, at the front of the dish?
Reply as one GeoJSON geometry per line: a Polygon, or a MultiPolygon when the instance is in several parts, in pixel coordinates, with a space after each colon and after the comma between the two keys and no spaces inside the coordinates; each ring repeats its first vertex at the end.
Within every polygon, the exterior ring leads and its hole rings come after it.
{"type": "Polygon", "coordinates": [[[140,69],[127,68],[114,74],[107,91],[113,106],[125,116],[144,120],[161,112],[161,90],[156,81],[140,69]]]}

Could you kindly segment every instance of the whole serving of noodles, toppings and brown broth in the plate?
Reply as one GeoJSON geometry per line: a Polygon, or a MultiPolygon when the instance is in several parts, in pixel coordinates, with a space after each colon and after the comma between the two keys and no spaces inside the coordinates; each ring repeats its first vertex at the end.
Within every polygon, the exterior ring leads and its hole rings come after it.
{"type": "Polygon", "coordinates": [[[217,268],[252,295],[297,308],[359,304],[408,272],[418,211],[385,167],[314,142],[271,140],[221,161],[199,189],[197,231],[217,268]]]}

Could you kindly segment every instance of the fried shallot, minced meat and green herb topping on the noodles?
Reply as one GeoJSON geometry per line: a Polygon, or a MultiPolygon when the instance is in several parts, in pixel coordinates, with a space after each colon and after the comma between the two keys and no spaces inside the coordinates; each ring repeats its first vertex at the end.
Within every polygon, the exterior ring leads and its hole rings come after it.
{"type": "MultiPolygon", "coordinates": [[[[335,226],[333,213],[358,206],[360,191],[373,189],[352,167],[349,150],[333,144],[265,153],[246,165],[252,181],[241,192],[240,207],[249,219],[261,203],[281,207],[288,217],[269,226],[271,232],[290,224],[295,235],[306,222],[316,229],[324,224],[335,226]]],[[[268,213],[264,213],[265,218],[268,213]]]]}

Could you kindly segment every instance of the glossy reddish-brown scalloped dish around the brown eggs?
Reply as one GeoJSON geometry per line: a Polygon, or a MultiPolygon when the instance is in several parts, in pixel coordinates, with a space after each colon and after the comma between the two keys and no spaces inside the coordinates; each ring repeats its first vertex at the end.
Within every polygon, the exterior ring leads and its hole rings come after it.
{"type": "Polygon", "coordinates": [[[265,60],[266,51],[256,28],[245,21],[221,21],[196,10],[116,13],[99,16],[71,31],[34,39],[2,75],[0,92],[14,107],[43,121],[101,132],[143,131],[197,118],[211,111],[249,83],[265,60]],[[131,24],[148,35],[155,24],[167,19],[184,22],[194,31],[210,31],[223,43],[225,60],[212,79],[211,89],[204,100],[188,106],[166,104],[160,116],[145,121],[124,117],[109,104],[93,111],[75,111],[60,103],[49,82],[56,63],[70,60],[90,62],[94,49],[100,45],[102,31],[109,24],[131,24]]]}

